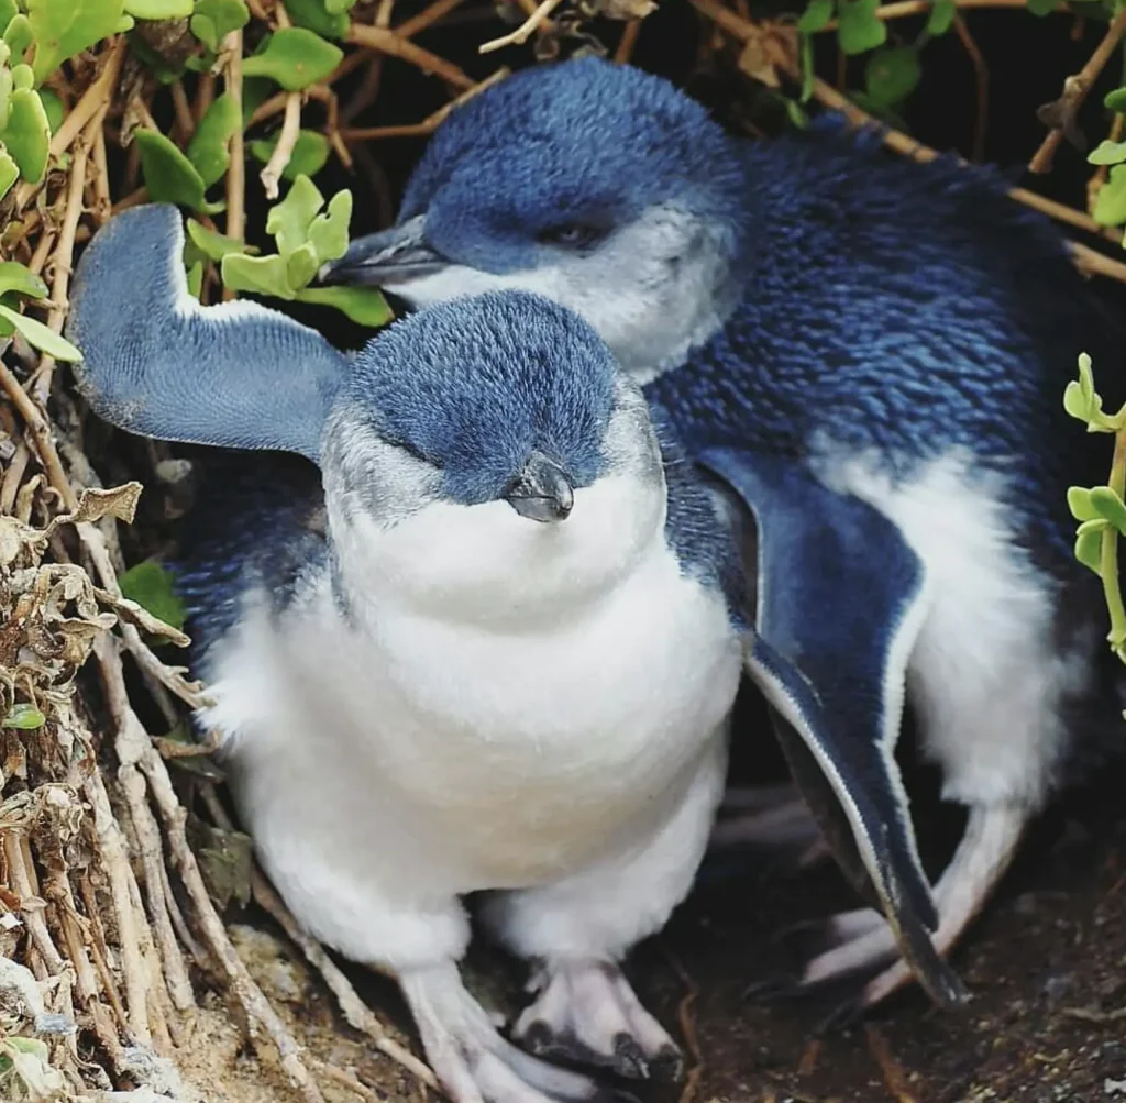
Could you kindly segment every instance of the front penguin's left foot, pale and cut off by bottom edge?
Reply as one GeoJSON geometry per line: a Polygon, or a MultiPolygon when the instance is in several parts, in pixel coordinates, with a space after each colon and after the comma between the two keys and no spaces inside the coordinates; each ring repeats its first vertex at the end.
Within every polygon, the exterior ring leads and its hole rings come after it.
{"type": "Polygon", "coordinates": [[[452,1103],[637,1103],[507,1042],[453,962],[400,973],[427,1059],[452,1103]]]}

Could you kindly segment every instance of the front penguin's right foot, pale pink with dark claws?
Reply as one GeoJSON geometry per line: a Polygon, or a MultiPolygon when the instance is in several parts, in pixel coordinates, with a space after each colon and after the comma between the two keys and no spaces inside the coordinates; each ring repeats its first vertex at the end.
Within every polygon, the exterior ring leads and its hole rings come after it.
{"type": "Polygon", "coordinates": [[[536,999],[512,1037],[539,1057],[592,1065],[637,1080],[676,1080],[680,1050],[609,961],[568,961],[537,970],[536,999]]]}

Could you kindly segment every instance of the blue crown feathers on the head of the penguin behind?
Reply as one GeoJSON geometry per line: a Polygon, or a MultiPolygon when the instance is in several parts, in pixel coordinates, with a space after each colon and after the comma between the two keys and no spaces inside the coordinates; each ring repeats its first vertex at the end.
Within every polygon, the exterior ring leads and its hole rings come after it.
{"type": "Polygon", "coordinates": [[[535,264],[543,231],[608,229],[670,197],[734,224],[739,180],[731,143],[699,104],[584,57],[516,73],[454,112],[411,177],[400,221],[426,212],[435,248],[503,272],[535,264]]]}

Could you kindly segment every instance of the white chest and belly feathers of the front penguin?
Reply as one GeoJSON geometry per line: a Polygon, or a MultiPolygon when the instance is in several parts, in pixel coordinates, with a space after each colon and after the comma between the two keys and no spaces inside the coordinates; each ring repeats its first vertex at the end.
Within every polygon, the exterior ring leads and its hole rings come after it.
{"type": "Polygon", "coordinates": [[[629,554],[610,548],[608,572],[587,571],[582,545],[598,534],[568,527],[579,495],[558,526],[493,506],[464,510],[468,527],[420,551],[434,567],[459,548],[458,581],[475,570],[466,555],[485,557],[482,585],[461,601],[440,578],[440,602],[396,584],[381,570],[405,561],[396,548],[368,564],[379,581],[351,623],[325,579],[226,641],[208,719],[233,736],[252,830],[285,808],[357,875],[393,863],[414,884],[467,892],[555,880],[628,846],[680,800],[724,738],[739,683],[722,598],[681,575],[661,527],[629,554]],[[490,523],[539,545],[475,546],[473,510],[493,506],[490,523]]]}

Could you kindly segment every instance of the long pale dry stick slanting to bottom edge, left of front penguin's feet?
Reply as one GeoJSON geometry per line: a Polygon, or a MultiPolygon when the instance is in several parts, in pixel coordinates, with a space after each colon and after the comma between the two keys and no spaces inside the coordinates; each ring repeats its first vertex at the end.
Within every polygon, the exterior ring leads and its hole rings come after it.
{"type": "Polygon", "coordinates": [[[106,702],[117,729],[117,757],[123,766],[138,766],[149,782],[149,790],[164,824],[172,865],[179,872],[184,887],[191,899],[196,918],[212,953],[222,967],[226,980],[243,1009],[266,1031],[277,1047],[282,1058],[282,1067],[291,1082],[301,1089],[309,1103],[324,1103],[320,1088],[302,1061],[301,1047],[247,971],[247,967],[240,960],[227,937],[223,920],[218,917],[215,906],[207,895],[196,856],[188,846],[185,833],[187,813],[172,789],[172,782],[168,776],[163,759],[157,754],[148,732],[129,703],[117,641],[108,633],[104,634],[95,641],[93,650],[102,673],[106,702]]]}

